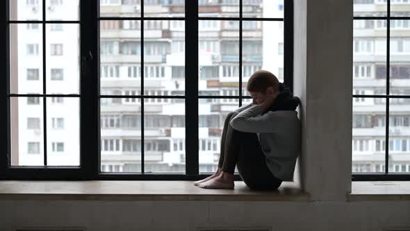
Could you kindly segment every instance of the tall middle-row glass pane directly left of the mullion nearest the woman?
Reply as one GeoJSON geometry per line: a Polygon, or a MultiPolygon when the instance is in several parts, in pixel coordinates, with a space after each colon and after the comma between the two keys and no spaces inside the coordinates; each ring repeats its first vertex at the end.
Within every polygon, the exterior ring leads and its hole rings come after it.
{"type": "Polygon", "coordinates": [[[144,22],[145,95],[183,95],[185,77],[185,22],[144,22]]]}

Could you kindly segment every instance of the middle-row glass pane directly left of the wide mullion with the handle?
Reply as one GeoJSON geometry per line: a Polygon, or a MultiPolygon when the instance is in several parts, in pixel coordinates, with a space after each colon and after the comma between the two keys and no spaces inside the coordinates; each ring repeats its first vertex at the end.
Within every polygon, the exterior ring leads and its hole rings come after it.
{"type": "Polygon", "coordinates": [[[47,93],[78,94],[79,25],[47,24],[47,93]]]}

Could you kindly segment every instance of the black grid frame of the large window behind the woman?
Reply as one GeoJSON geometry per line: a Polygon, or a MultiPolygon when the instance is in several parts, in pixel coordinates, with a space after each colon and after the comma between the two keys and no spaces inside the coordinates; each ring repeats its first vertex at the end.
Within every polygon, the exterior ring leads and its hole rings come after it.
{"type": "MultiPolygon", "coordinates": [[[[42,20],[43,21],[17,21],[9,19],[9,3],[13,0],[1,1],[0,15],[4,15],[4,23],[6,26],[1,27],[1,33],[3,36],[0,38],[1,63],[0,67],[2,73],[6,78],[3,78],[0,88],[0,94],[3,100],[0,101],[0,108],[6,109],[6,113],[1,113],[0,131],[3,131],[3,137],[0,141],[0,148],[3,150],[3,154],[0,157],[0,180],[198,180],[209,174],[199,173],[199,113],[198,113],[198,100],[199,99],[222,99],[233,98],[239,99],[239,106],[242,101],[240,99],[249,99],[249,96],[242,95],[242,46],[243,46],[243,23],[245,21],[279,21],[284,22],[284,83],[293,90],[293,0],[286,0],[284,3],[284,17],[282,18],[256,18],[256,17],[243,17],[242,13],[242,0],[239,2],[239,17],[199,17],[198,14],[198,1],[188,1],[185,4],[185,16],[184,17],[142,17],[144,14],[144,1],[141,1],[141,17],[99,17],[99,0],[85,1],[80,0],[79,19],[76,21],[44,21],[46,19],[46,0],[42,1],[42,20]],[[115,20],[115,19],[134,19],[140,20],[185,20],[185,52],[186,66],[185,76],[196,78],[185,78],[186,86],[192,86],[186,88],[186,94],[179,95],[163,95],[152,96],[143,95],[144,81],[144,68],[141,70],[141,95],[129,96],[145,98],[167,98],[167,99],[185,99],[186,109],[186,173],[185,174],[163,174],[163,173],[144,173],[144,167],[142,167],[141,173],[101,173],[100,171],[100,147],[101,147],[101,126],[100,120],[100,98],[114,98],[119,96],[113,95],[100,95],[99,89],[99,22],[100,20],[115,20]],[[198,92],[198,22],[199,20],[235,20],[240,22],[239,26],[239,88],[238,96],[213,96],[213,95],[199,95],[198,92]],[[80,92],[78,95],[51,95],[46,94],[45,90],[43,94],[10,94],[10,24],[19,23],[39,23],[43,26],[42,36],[43,44],[45,43],[45,25],[48,23],[76,23],[80,26],[80,92]],[[87,86],[85,88],[85,86],[87,86]],[[188,90],[189,89],[189,90],[188,90]],[[10,166],[10,97],[41,97],[44,102],[47,97],[79,97],[80,99],[80,159],[81,165],[76,167],[53,167],[53,166],[10,166]],[[95,122],[90,122],[95,121],[95,122]],[[95,137],[91,138],[90,137],[95,137]],[[87,140],[87,142],[85,142],[87,140]]],[[[143,37],[143,23],[141,23],[142,29],[141,38],[143,37]]],[[[141,41],[141,54],[144,54],[143,39],[141,41]]],[[[43,45],[43,60],[46,56],[45,46],[43,45]]],[[[141,64],[144,63],[144,56],[141,56],[141,64]]],[[[45,61],[43,63],[43,81],[45,82],[46,68],[44,68],[45,61]]],[[[45,89],[45,83],[43,83],[45,89]]],[[[124,96],[121,96],[124,97],[124,96]]],[[[143,100],[141,100],[143,102],[143,100]]],[[[141,113],[144,112],[144,104],[142,103],[141,113]]],[[[46,111],[44,110],[44,116],[46,111]]],[[[44,117],[45,118],[45,117],[44,117]]],[[[45,120],[44,120],[45,121],[45,120]]],[[[45,127],[45,122],[44,122],[45,127]]],[[[141,116],[141,161],[144,162],[144,119],[141,116]]],[[[45,133],[45,132],[44,132],[45,133]]],[[[44,140],[44,143],[47,141],[44,140]]],[[[44,145],[47,146],[47,145],[44,145]]],[[[46,148],[44,147],[44,150],[46,148]]],[[[44,157],[47,154],[44,152],[44,157]]],[[[44,162],[45,163],[45,162],[44,162]]],[[[143,164],[142,164],[143,166],[143,164]]],[[[236,175],[236,179],[240,179],[236,175]]]]}

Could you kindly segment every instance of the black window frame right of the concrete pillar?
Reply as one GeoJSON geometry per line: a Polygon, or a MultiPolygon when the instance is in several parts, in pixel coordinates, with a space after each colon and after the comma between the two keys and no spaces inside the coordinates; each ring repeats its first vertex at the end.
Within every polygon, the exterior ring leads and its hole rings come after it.
{"type": "MultiPolygon", "coordinates": [[[[385,16],[354,16],[353,20],[386,20],[386,95],[352,95],[352,99],[370,98],[370,99],[386,99],[386,136],[385,141],[385,159],[384,159],[384,173],[357,173],[352,171],[352,181],[409,181],[410,173],[389,173],[388,162],[391,160],[389,156],[389,115],[390,115],[390,99],[410,99],[410,95],[390,95],[390,69],[395,65],[391,65],[390,56],[390,41],[391,41],[391,21],[397,19],[410,20],[410,17],[391,16],[391,0],[386,1],[386,15],[385,16]]],[[[365,21],[368,22],[368,21],[365,21]]],[[[376,71],[375,71],[376,72],[376,71]]],[[[376,73],[375,73],[376,74],[376,73]]],[[[380,140],[382,141],[382,140],[380,140]]],[[[392,166],[393,167],[393,166],[392,166]]]]}

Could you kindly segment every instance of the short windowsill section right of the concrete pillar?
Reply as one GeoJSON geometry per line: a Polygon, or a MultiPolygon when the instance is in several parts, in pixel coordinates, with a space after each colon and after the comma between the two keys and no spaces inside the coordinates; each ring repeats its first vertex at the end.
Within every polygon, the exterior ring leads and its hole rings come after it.
{"type": "Polygon", "coordinates": [[[347,200],[410,200],[410,182],[352,182],[347,200]]]}

